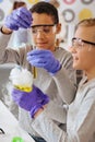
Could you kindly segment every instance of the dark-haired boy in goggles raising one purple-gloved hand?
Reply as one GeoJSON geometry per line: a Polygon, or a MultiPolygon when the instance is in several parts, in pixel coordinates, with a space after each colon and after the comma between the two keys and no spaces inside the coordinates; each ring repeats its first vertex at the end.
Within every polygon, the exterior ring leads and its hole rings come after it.
{"type": "MultiPolygon", "coordinates": [[[[58,11],[48,2],[38,2],[29,11],[25,8],[14,10],[1,28],[3,34],[0,40],[0,63],[14,62],[29,71],[36,67],[37,78],[34,79],[34,84],[45,94],[49,94],[49,97],[62,109],[63,104],[73,100],[76,88],[71,54],[55,45],[56,35],[60,29],[58,11]],[[5,48],[12,31],[19,28],[32,28],[34,47],[26,45],[17,50],[5,48]]],[[[33,119],[28,111],[22,108],[20,123],[35,141],[37,138],[39,142],[40,135],[32,128],[33,119]]],[[[60,120],[58,125],[62,126],[60,120]]]]}

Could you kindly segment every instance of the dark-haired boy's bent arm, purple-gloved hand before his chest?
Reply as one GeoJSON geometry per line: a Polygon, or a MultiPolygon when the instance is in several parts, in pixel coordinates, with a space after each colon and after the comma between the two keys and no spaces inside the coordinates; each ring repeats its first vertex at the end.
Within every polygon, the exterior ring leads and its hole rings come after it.
{"type": "Polygon", "coordinates": [[[32,66],[43,68],[49,73],[58,88],[57,94],[64,103],[72,102],[76,87],[74,85],[75,71],[72,69],[70,54],[60,49],[56,51],[56,55],[50,50],[35,49],[27,54],[27,60],[32,66]]]}

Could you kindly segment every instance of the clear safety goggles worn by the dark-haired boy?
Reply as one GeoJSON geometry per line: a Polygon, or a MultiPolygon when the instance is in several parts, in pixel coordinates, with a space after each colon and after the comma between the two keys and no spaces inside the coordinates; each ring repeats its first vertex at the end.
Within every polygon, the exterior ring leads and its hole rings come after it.
{"type": "Polygon", "coordinates": [[[37,35],[41,32],[45,35],[50,35],[56,32],[56,24],[46,24],[46,25],[33,25],[32,26],[32,34],[37,35]]]}

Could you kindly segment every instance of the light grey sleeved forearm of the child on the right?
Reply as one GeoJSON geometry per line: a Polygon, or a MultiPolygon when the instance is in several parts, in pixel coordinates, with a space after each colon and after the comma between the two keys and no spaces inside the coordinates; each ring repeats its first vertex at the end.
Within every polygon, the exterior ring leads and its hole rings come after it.
{"type": "Polygon", "coordinates": [[[64,142],[66,132],[49,119],[44,111],[34,120],[32,127],[47,142],[64,142]],[[64,138],[61,138],[61,135],[64,135],[64,138]]]}

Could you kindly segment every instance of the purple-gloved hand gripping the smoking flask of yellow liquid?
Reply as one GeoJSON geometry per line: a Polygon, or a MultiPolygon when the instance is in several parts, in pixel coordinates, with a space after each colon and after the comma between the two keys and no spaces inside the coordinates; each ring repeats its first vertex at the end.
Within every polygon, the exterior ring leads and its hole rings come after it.
{"type": "Polygon", "coordinates": [[[33,91],[28,93],[13,88],[12,98],[20,107],[29,111],[32,118],[39,108],[49,102],[49,97],[34,85],[33,91]]]}

